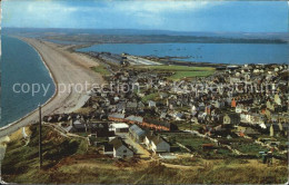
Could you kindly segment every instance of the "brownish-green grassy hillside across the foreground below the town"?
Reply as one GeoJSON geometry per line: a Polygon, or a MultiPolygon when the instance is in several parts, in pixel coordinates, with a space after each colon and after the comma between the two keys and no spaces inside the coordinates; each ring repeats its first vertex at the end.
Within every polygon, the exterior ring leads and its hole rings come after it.
{"type": "Polygon", "coordinates": [[[2,164],[3,179],[24,184],[281,184],[287,164],[267,167],[256,159],[178,158],[173,160],[116,160],[87,148],[81,138],[67,138],[44,127],[44,166],[38,167],[38,128],[29,143],[12,136],[2,164]]]}

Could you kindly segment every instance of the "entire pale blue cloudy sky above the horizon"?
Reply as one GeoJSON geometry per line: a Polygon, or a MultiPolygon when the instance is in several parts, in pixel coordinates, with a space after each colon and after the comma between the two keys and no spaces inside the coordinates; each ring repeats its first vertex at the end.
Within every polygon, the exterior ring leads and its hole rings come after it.
{"type": "Polygon", "coordinates": [[[3,0],[2,27],[287,32],[287,1],[3,0]]]}

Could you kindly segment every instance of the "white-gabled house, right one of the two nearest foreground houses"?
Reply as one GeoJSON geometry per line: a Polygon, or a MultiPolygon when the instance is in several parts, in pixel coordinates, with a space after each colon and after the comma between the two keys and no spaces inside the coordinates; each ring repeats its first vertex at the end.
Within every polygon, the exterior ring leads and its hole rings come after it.
{"type": "Polygon", "coordinates": [[[159,135],[148,134],[144,137],[144,144],[149,149],[152,149],[155,153],[170,152],[170,144],[159,135]]]}

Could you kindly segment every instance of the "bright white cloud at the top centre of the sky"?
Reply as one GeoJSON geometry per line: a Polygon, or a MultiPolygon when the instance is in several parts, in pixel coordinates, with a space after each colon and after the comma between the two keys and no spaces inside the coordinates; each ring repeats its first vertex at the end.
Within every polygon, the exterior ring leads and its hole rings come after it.
{"type": "Polygon", "coordinates": [[[195,13],[225,2],[208,1],[117,1],[113,11],[130,16],[140,26],[153,28],[169,21],[168,14],[195,13]]]}

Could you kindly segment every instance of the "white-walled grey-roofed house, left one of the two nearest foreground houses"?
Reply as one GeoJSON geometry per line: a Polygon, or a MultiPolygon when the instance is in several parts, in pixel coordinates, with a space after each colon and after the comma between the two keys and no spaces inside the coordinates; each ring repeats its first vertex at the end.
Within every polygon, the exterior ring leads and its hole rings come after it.
{"type": "MultiPolygon", "coordinates": [[[[109,143],[113,147],[113,157],[117,158],[127,158],[133,157],[133,152],[129,148],[129,146],[120,138],[116,137],[109,143]]],[[[108,153],[108,150],[106,150],[108,153]]]]}

